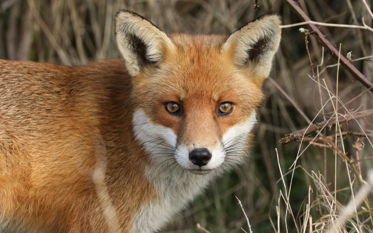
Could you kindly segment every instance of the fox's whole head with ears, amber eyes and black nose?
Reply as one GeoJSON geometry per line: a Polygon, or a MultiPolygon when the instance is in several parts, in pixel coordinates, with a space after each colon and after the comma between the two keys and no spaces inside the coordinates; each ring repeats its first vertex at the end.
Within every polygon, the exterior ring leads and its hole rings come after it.
{"type": "Polygon", "coordinates": [[[166,35],[133,12],[117,12],[116,40],[132,76],[132,126],[151,161],[197,174],[242,161],[280,24],[267,14],[230,36],[166,35]]]}

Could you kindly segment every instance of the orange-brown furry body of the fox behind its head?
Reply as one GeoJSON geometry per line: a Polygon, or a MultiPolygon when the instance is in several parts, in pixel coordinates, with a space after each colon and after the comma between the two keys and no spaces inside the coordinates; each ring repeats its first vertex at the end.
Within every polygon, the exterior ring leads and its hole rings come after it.
{"type": "Polygon", "coordinates": [[[0,70],[0,220],[40,232],[108,232],[92,179],[103,145],[106,183],[128,231],[129,213],[156,194],[128,127],[123,61],[66,67],[2,60],[0,70]]]}

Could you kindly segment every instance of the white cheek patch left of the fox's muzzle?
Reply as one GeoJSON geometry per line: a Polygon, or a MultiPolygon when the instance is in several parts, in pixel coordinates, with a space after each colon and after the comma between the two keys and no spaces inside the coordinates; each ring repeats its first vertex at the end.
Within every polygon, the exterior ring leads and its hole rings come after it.
{"type": "Polygon", "coordinates": [[[154,124],[143,110],[137,110],[132,119],[135,138],[150,152],[151,157],[162,156],[162,152],[171,153],[176,148],[176,134],[172,129],[154,124]]]}

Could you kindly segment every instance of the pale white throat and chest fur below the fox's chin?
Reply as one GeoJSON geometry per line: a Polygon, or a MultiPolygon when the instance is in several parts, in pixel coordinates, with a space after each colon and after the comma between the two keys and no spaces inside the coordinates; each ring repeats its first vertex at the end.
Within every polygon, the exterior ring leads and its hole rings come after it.
{"type": "Polygon", "coordinates": [[[195,196],[203,191],[213,177],[192,174],[189,171],[183,172],[181,169],[179,171],[168,170],[167,166],[167,164],[161,166],[152,164],[146,167],[145,174],[153,183],[157,198],[141,208],[135,218],[132,232],[156,232],[164,227],[172,220],[172,216],[184,209],[195,196]],[[159,169],[160,167],[162,168],[159,169]]]}

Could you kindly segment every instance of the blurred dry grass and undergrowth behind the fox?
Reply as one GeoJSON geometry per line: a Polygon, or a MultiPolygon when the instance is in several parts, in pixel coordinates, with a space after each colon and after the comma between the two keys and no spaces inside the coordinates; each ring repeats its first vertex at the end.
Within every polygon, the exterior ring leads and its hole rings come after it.
{"type": "MultiPolygon", "coordinates": [[[[165,32],[230,34],[245,23],[268,12],[278,12],[283,24],[300,22],[281,0],[2,0],[0,1],[0,58],[81,65],[117,58],[113,16],[119,9],[132,10],[165,32]]],[[[372,26],[371,0],[301,0],[299,4],[313,21],[372,26]]],[[[288,133],[335,117],[337,61],[312,36],[308,57],[302,26],[283,29],[266,94],[258,110],[250,160],[237,171],[211,183],[210,188],[179,214],[163,232],[211,233],[326,232],[341,216],[344,206],[360,186],[344,153],[358,167],[362,179],[373,167],[373,117],[341,124],[342,132],[366,133],[368,137],[345,135],[333,145],[289,142],[279,144],[288,133]],[[313,78],[313,63],[315,76],[313,78]],[[365,147],[357,147],[360,138],[365,147]],[[276,154],[275,148],[278,150],[276,154]],[[341,152],[342,151],[342,152],[341,152]],[[358,157],[356,157],[358,156],[358,157]],[[294,167],[291,167],[295,163],[294,167]],[[281,179],[281,172],[283,179],[281,179]],[[288,208],[286,205],[288,204],[288,208]]],[[[326,27],[320,30],[341,54],[352,51],[351,59],[372,81],[373,32],[364,29],[326,27]]],[[[338,73],[338,114],[373,107],[373,94],[343,67],[338,73]],[[344,104],[344,105],[342,105],[344,104]]],[[[321,130],[333,135],[335,127],[321,130]]],[[[316,136],[310,133],[306,136],[316,136]]],[[[320,135],[319,135],[320,136],[320,135]]],[[[334,139],[333,139],[334,140],[334,139]]],[[[360,145],[363,145],[360,144],[360,145]]],[[[352,162],[351,162],[352,163],[352,162]]],[[[373,201],[368,197],[366,202],[373,201]]],[[[367,208],[350,214],[341,232],[372,232],[367,208]],[[357,230],[356,230],[357,229],[357,230]]]]}

